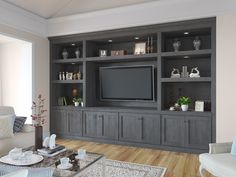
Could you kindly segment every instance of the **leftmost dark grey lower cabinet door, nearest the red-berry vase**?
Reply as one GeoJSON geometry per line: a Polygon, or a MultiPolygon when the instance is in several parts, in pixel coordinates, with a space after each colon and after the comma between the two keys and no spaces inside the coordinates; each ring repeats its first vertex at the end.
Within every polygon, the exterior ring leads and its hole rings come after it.
{"type": "Polygon", "coordinates": [[[57,134],[68,133],[67,113],[65,110],[53,110],[53,124],[54,130],[57,134]]]}

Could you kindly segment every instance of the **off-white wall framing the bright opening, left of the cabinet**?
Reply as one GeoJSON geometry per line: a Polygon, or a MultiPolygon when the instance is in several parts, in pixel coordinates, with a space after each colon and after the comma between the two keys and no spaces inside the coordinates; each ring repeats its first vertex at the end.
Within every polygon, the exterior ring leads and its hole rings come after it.
{"type": "MultiPolygon", "coordinates": [[[[33,100],[41,93],[45,98],[47,112],[47,124],[44,132],[49,132],[49,42],[47,38],[38,37],[28,32],[16,30],[6,25],[0,24],[0,33],[9,37],[18,38],[32,43],[33,46],[33,76],[32,76],[32,95],[33,100]]],[[[24,84],[24,83],[22,83],[24,84]]]]}

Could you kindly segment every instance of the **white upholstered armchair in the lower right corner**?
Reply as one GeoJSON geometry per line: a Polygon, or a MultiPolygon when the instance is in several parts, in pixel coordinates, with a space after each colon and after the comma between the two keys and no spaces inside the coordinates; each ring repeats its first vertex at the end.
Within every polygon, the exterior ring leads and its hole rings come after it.
{"type": "Polygon", "coordinates": [[[210,144],[209,153],[200,154],[199,172],[207,170],[217,177],[236,177],[236,156],[230,154],[232,143],[210,144]]]}

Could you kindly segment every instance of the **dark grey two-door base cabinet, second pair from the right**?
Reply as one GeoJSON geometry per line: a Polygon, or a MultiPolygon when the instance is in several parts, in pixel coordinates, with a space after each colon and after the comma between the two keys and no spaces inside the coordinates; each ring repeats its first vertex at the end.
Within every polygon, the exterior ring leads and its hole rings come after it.
{"type": "Polygon", "coordinates": [[[160,144],[160,116],[152,114],[120,113],[119,140],[160,144]]]}

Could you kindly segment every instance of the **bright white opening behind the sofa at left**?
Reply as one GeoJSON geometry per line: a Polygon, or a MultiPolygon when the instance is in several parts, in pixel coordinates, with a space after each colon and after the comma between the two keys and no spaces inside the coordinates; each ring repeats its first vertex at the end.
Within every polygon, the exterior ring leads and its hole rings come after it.
{"type": "Polygon", "coordinates": [[[16,40],[0,45],[1,104],[10,105],[31,123],[32,44],[16,40]]]}

